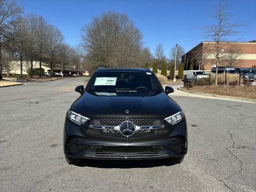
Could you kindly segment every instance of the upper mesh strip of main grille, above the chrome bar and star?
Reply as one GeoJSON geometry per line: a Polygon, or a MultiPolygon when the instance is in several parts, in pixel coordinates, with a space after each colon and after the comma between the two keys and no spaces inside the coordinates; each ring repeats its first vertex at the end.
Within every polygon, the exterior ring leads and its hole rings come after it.
{"type": "Polygon", "coordinates": [[[90,122],[90,125],[118,126],[124,121],[131,121],[137,126],[164,125],[163,120],[157,118],[141,119],[118,119],[118,118],[97,118],[90,122]]]}

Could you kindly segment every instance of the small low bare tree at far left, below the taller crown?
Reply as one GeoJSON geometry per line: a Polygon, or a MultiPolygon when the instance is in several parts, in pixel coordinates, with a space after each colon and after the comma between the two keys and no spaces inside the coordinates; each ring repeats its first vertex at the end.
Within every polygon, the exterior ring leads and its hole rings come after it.
{"type": "Polygon", "coordinates": [[[4,50],[2,54],[2,66],[3,70],[7,73],[7,77],[10,76],[10,72],[16,70],[17,63],[14,61],[14,56],[12,52],[4,50]]]}

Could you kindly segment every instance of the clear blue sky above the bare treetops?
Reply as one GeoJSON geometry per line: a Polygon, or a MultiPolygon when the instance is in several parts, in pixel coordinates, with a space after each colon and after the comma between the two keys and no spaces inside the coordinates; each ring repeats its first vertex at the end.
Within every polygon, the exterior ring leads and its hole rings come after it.
{"type": "MultiPolygon", "coordinates": [[[[210,17],[217,1],[83,1],[83,0],[23,0],[24,12],[41,14],[50,24],[57,26],[65,41],[74,46],[80,40],[80,29],[102,12],[114,10],[125,13],[143,34],[144,46],[154,53],[158,43],[164,45],[165,54],[175,44],[190,50],[203,39],[202,26],[212,24],[210,17]]],[[[240,28],[242,41],[256,39],[256,0],[230,0],[230,12],[246,23],[240,28]]]]}

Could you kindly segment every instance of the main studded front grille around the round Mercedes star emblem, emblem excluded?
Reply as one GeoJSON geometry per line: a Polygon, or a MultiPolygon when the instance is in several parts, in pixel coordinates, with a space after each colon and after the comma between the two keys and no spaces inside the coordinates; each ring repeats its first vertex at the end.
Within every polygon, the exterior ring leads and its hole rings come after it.
{"type": "Polygon", "coordinates": [[[167,132],[164,121],[159,118],[96,118],[90,121],[87,132],[95,136],[107,138],[126,138],[119,130],[116,130],[115,127],[127,120],[140,127],[129,139],[154,137],[167,132]]]}

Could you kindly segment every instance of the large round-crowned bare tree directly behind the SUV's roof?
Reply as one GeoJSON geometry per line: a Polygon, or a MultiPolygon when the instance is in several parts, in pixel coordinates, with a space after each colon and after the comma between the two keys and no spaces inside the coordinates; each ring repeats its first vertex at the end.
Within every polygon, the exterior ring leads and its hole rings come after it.
{"type": "Polygon", "coordinates": [[[132,66],[142,44],[142,35],[126,14],[107,12],[82,28],[80,45],[88,67],[132,66]]]}

